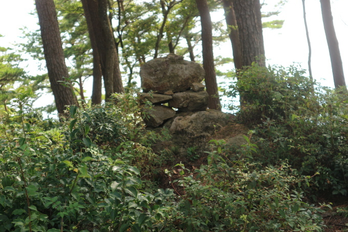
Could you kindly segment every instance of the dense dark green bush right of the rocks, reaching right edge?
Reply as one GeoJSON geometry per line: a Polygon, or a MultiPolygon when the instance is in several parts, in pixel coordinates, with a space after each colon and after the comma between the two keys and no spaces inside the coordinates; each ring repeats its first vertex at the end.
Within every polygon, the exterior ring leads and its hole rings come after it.
{"type": "Polygon", "coordinates": [[[346,194],[348,183],[348,101],[346,91],[320,88],[295,66],[262,68],[240,73],[229,96],[239,93],[238,118],[258,138],[255,158],[273,165],[288,159],[301,175],[313,175],[315,187],[346,194]]]}

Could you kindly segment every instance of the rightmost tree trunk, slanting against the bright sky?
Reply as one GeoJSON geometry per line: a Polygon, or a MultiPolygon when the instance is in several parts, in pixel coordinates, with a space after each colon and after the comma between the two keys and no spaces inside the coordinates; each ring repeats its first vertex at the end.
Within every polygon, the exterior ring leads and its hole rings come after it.
{"type": "Polygon", "coordinates": [[[338,40],[334,28],[334,20],[331,12],[330,0],[320,0],[322,22],[324,24],[325,35],[328,41],[332,74],[334,76],[335,88],[345,87],[341,53],[339,51],[338,40]]]}

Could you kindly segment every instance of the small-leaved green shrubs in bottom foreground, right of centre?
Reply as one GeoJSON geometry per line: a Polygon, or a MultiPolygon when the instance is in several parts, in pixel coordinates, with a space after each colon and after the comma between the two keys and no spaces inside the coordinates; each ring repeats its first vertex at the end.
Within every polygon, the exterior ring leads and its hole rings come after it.
{"type": "Polygon", "coordinates": [[[246,140],[237,159],[223,141],[212,140],[216,149],[194,174],[177,164],[181,179],[172,182],[181,199],[173,205],[171,231],[322,231],[323,210],[294,189],[310,177],[294,175],[286,162],[259,168],[249,158],[257,146],[246,140]]]}

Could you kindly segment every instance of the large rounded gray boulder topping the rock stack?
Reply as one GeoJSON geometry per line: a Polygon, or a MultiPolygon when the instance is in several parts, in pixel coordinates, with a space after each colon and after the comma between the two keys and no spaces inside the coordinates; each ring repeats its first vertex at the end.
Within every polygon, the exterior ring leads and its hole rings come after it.
{"type": "Polygon", "coordinates": [[[204,69],[199,64],[175,54],[150,60],[140,68],[144,92],[183,92],[190,89],[191,83],[201,82],[204,76],[204,69]]]}

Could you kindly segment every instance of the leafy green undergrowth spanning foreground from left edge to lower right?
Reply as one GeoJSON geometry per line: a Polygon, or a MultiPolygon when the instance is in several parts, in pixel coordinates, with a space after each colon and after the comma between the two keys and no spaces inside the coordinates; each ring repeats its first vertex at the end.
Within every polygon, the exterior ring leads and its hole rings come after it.
{"type": "MultiPolygon", "coordinates": [[[[70,107],[63,122],[27,116],[30,90],[1,124],[1,231],[322,231],[325,205],[303,201],[301,176],[286,160],[263,165],[260,137],[238,149],[211,141],[207,161],[161,189],[151,179],[163,157],[150,146],[166,133],[145,130],[136,94],[113,104],[70,107]],[[146,178],[145,178],[146,176],[146,178]],[[150,185],[146,184],[151,182],[150,185]]],[[[258,133],[255,131],[255,133],[258,133]]],[[[179,168],[179,169],[178,169],[179,168]]]]}

